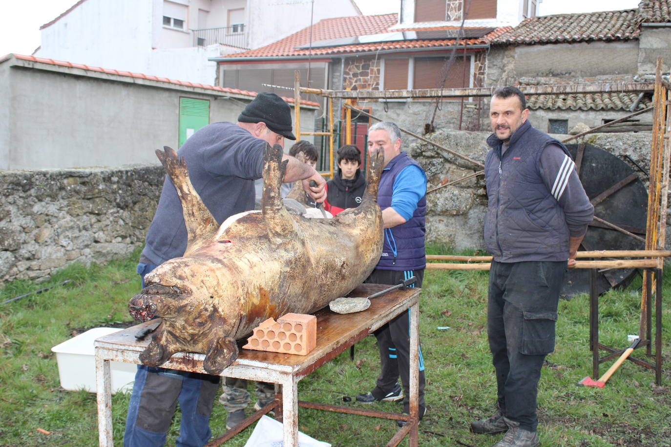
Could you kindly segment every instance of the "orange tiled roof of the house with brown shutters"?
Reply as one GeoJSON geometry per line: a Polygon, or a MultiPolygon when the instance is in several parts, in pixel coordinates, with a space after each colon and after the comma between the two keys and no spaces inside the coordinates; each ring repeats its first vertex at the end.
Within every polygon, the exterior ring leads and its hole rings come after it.
{"type": "MultiPolygon", "coordinates": [[[[370,36],[372,34],[384,34],[391,25],[397,22],[396,14],[363,15],[354,17],[338,17],[335,19],[324,19],[313,26],[312,42],[327,41],[353,36],[370,36]]],[[[458,29],[458,27],[443,27],[442,29],[458,29]]],[[[478,27],[478,29],[484,29],[478,27]]],[[[491,29],[491,28],[490,28],[491,29]]],[[[510,27],[497,28],[485,36],[478,38],[460,39],[460,45],[488,44],[489,40],[496,38],[510,27]]],[[[440,28],[431,28],[431,31],[440,28]]],[[[488,31],[489,29],[484,29],[488,31]]],[[[419,30],[419,31],[423,31],[419,30]]],[[[270,45],[256,48],[242,53],[222,56],[226,60],[245,58],[275,58],[292,56],[325,56],[335,54],[366,53],[384,50],[409,50],[420,48],[442,48],[454,46],[456,40],[452,39],[416,39],[416,40],[384,40],[382,42],[369,42],[348,45],[332,45],[306,48],[310,42],[310,27],[301,29],[295,34],[278,40],[270,45]],[[299,48],[300,47],[300,48],[299,48]]]]}

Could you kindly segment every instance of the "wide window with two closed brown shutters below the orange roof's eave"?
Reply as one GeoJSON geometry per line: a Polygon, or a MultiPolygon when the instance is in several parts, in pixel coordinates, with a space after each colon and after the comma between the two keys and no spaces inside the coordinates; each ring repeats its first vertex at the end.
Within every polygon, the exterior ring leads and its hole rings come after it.
{"type": "MultiPolygon", "coordinates": [[[[449,58],[386,58],[384,59],[384,90],[411,88],[462,88],[471,86],[470,56],[449,58]]],[[[450,98],[452,99],[452,98],[450,98]]]]}

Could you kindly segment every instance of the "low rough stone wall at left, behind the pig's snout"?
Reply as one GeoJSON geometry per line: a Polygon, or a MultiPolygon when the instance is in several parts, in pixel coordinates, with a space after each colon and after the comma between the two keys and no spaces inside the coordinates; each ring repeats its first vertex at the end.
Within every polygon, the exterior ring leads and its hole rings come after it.
{"type": "Polygon", "coordinates": [[[144,243],[163,179],[161,166],[0,172],[0,284],[128,255],[144,243]]]}

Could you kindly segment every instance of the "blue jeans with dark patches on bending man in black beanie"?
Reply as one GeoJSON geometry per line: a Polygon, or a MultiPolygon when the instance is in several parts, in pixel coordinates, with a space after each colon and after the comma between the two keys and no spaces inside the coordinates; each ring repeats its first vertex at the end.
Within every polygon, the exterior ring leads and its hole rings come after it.
{"type": "MultiPolygon", "coordinates": [[[[155,268],[154,264],[138,264],[143,288],[144,275],[155,268]]],[[[218,389],[219,376],[138,365],[128,403],[123,446],[163,446],[177,401],[182,422],[176,446],[204,446],[212,436],[209,416],[218,389]]]]}

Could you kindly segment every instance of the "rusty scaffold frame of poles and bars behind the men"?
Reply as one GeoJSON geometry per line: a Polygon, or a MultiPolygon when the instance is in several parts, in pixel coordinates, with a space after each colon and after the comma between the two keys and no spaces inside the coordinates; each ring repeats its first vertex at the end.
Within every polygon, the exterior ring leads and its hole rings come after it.
{"type": "MultiPolygon", "coordinates": [[[[331,115],[331,132],[333,130],[332,127],[332,122],[333,122],[333,109],[332,109],[332,101],[333,99],[346,99],[347,103],[345,104],[344,107],[346,107],[347,110],[347,117],[349,119],[350,117],[350,111],[356,111],[356,113],[360,113],[362,115],[366,115],[371,119],[376,119],[378,121],[382,121],[382,119],[375,117],[374,115],[371,115],[370,113],[366,113],[365,111],[362,111],[360,109],[356,109],[354,105],[352,105],[352,100],[359,100],[359,99],[380,99],[380,100],[388,100],[388,99],[412,99],[412,98],[463,98],[463,97],[476,97],[476,98],[482,98],[482,97],[491,97],[493,94],[494,90],[496,87],[476,87],[476,88],[425,88],[425,89],[415,89],[415,90],[324,90],[324,89],[318,89],[318,88],[305,88],[301,87],[299,85],[299,80],[297,78],[296,84],[295,84],[295,94],[296,99],[299,99],[299,94],[300,92],[310,92],[314,94],[319,94],[322,97],[325,97],[327,100],[329,100],[329,113],[331,115]]],[[[535,95],[535,94],[549,94],[549,95],[555,95],[555,94],[586,94],[586,93],[601,93],[601,92],[640,92],[641,94],[644,92],[654,92],[654,102],[652,107],[648,107],[647,109],[643,109],[641,111],[636,111],[634,113],[631,113],[630,115],[627,115],[626,117],[622,117],[620,119],[617,119],[615,121],[611,121],[609,123],[606,123],[605,125],[601,125],[599,127],[595,127],[593,129],[590,129],[586,132],[580,133],[578,135],[574,135],[572,137],[569,137],[568,139],[565,139],[562,141],[563,143],[566,143],[568,141],[571,141],[572,139],[576,139],[578,137],[582,137],[584,135],[587,135],[588,133],[594,133],[595,131],[599,131],[600,129],[603,129],[604,127],[608,127],[610,125],[619,123],[621,121],[625,121],[626,119],[629,119],[631,117],[634,117],[636,115],[640,115],[641,113],[645,113],[648,111],[652,110],[653,113],[653,126],[652,126],[652,147],[651,147],[651,153],[650,153],[650,183],[648,186],[648,213],[647,213],[647,222],[646,222],[646,239],[645,239],[645,250],[644,251],[636,251],[637,253],[634,254],[629,254],[625,256],[633,256],[633,257],[648,257],[648,259],[637,259],[637,260],[631,260],[631,261],[625,261],[625,260],[619,260],[619,261],[578,261],[576,264],[576,268],[623,268],[623,267],[636,267],[636,268],[642,268],[646,270],[645,275],[643,275],[643,292],[641,294],[641,316],[640,316],[640,322],[639,322],[639,338],[641,339],[641,342],[639,342],[638,346],[646,346],[646,354],[647,355],[652,355],[651,353],[651,344],[652,342],[650,341],[650,338],[652,337],[651,334],[651,325],[652,321],[650,320],[650,303],[652,300],[652,294],[656,295],[656,319],[657,319],[657,324],[656,324],[656,353],[655,353],[655,359],[656,363],[648,363],[644,361],[640,361],[639,359],[633,359],[629,358],[631,361],[635,361],[635,363],[638,363],[639,365],[643,365],[652,369],[656,370],[656,382],[660,383],[661,382],[661,365],[662,365],[662,352],[661,352],[661,334],[662,334],[662,326],[661,326],[661,312],[662,312],[662,288],[661,288],[661,281],[662,281],[662,269],[664,267],[664,257],[667,255],[661,255],[660,250],[664,248],[664,243],[666,242],[666,213],[668,209],[668,192],[669,192],[669,174],[670,174],[670,169],[671,169],[671,162],[670,162],[670,156],[671,156],[671,97],[670,97],[670,90],[671,90],[671,83],[668,82],[667,80],[664,80],[662,78],[662,58],[658,58],[657,60],[657,66],[656,66],[656,74],[655,74],[655,81],[654,82],[601,82],[601,83],[595,83],[595,84],[559,84],[559,85],[536,85],[536,86],[520,86],[520,90],[525,95],[535,95]],[[647,254],[646,254],[647,253],[647,254]],[[590,264],[590,263],[595,263],[595,264],[590,264]],[[654,292],[653,292],[654,291],[654,292]]],[[[639,97],[640,98],[640,97],[639,97]]],[[[298,123],[298,118],[297,118],[297,123],[298,123]]],[[[461,182],[462,180],[466,180],[468,178],[476,177],[479,175],[484,174],[484,171],[482,171],[482,168],[484,166],[480,163],[477,162],[476,160],[470,159],[469,157],[466,157],[465,155],[462,155],[456,151],[452,151],[451,149],[448,149],[447,147],[443,147],[442,145],[439,145],[437,143],[434,143],[433,141],[430,141],[429,139],[425,139],[424,137],[421,137],[419,135],[415,135],[414,133],[411,133],[410,131],[407,131],[405,129],[401,129],[404,133],[407,133],[421,141],[424,141],[425,143],[429,143],[437,149],[440,149],[442,151],[446,151],[450,153],[451,155],[454,155],[456,157],[460,157],[461,159],[466,160],[467,162],[470,162],[474,166],[477,166],[480,168],[478,172],[475,172],[474,174],[470,174],[468,176],[464,176],[462,178],[458,178],[456,180],[452,180],[451,182],[448,182],[446,184],[442,184],[440,186],[437,186],[435,188],[431,188],[431,190],[427,190],[427,194],[430,192],[433,192],[437,189],[443,188],[444,186],[449,186],[452,184],[456,184],[458,182],[461,182]]],[[[350,132],[350,126],[348,125],[346,128],[346,132],[350,132]]],[[[351,141],[351,137],[348,135],[347,140],[348,143],[351,141]]],[[[332,144],[332,142],[331,142],[332,144]]],[[[584,145],[582,146],[584,148],[584,145]]],[[[581,158],[581,151],[580,147],[578,147],[578,157],[576,157],[576,166],[579,169],[580,166],[580,160],[581,158]]],[[[331,166],[333,164],[333,153],[332,153],[332,147],[331,147],[331,166]]],[[[333,174],[333,170],[331,169],[331,175],[333,174]]],[[[611,188],[608,188],[605,192],[600,194],[597,198],[599,201],[603,200],[605,197],[607,197],[610,194],[613,194],[615,191],[619,190],[622,188],[627,182],[631,181],[633,179],[625,179],[621,182],[618,182],[617,184],[611,186],[611,188]]],[[[611,222],[607,222],[606,220],[603,220],[602,218],[599,218],[598,216],[595,216],[595,223],[596,225],[603,226],[603,227],[608,227],[611,229],[615,229],[616,231],[620,231],[621,233],[628,235],[629,237],[634,237],[635,239],[642,240],[641,237],[638,237],[637,235],[633,235],[631,232],[614,225],[611,222]]],[[[591,247],[590,247],[591,248],[591,247]]],[[[580,253],[580,252],[579,252],[580,253]]],[[[603,253],[603,252],[582,252],[582,253],[603,253]]],[[[612,253],[612,252],[611,252],[612,253]]],[[[594,255],[592,257],[601,257],[594,255]]],[[[427,257],[428,259],[429,257],[427,257]]],[[[474,269],[474,265],[472,264],[442,264],[442,267],[437,267],[439,264],[427,264],[427,268],[442,268],[442,269],[466,269],[464,266],[468,267],[468,269],[474,269]],[[433,267],[435,265],[436,267],[433,267]]],[[[480,264],[476,269],[488,269],[489,266],[487,264],[480,264]]],[[[591,277],[591,275],[590,275],[591,277]]],[[[605,346],[603,344],[599,344],[598,342],[598,294],[595,295],[596,292],[595,290],[590,289],[590,316],[592,316],[592,321],[593,324],[596,326],[593,327],[590,325],[590,349],[592,350],[592,355],[596,359],[595,360],[595,372],[594,375],[598,376],[597,369],[599,363],[603,361],[607,361],[609,359],[612,359],[613,357],[617,357],[617,355],[621,354],[623,350],[615,350],[613,348],[610,348],[609,346],[605,346]],[[592,314],[593,312],[593,314],[592,314]],[[603,357],[599,359],[599,349],[604,349],[608,350],[611,352],[610,355],[607,355],[606,357],[603,357]]]]}

